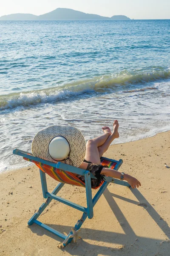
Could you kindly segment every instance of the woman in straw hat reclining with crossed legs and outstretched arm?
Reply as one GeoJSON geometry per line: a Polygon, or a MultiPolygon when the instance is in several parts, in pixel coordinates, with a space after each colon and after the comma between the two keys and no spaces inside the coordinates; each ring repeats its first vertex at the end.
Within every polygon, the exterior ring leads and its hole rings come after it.
{"type": "MultiPolygon", "coordinates": [[[[127,180],[134,189],[141,186],[136,178],[120,173],[108,166],[100,164],[100,157],[108,150],[111,142],[119,137],[119,123],[113,123],[113,133],[108,126],[104,126],[104,134],[95,139],[85,139],[77,128],[72,126],[55,125],[38,132],[32,142],[32,153],[35,157],[57,163],[58,161],[90,171],[96,179],[91,179],[92,188],[96,188],[105,180],[105,176],[127,180]],[[84,159],[84,160],[83,160],[84,159]],[[82,162],[83,161],[83,162],[82,162]],[[105,176],[104,176],[105,175],[105,176]]],[[[85,177],[77,175],[85,181],[85,177]]]]}

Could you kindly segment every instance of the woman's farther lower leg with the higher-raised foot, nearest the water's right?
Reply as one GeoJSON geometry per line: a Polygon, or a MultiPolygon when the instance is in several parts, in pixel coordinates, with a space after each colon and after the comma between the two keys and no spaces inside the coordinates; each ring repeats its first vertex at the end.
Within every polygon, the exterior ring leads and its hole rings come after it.
{"type": "Polygon", "coordinates": [[[99,151],[99,157],[102,157],[102,155],[108,150],[109,146],[111,145],[112,141],[116,138],[119,138],[119,123],[117,120],[113,122],[113,133],[108,137],[108,139],[103,143],[103,145],[98,147],[99,151]]]}

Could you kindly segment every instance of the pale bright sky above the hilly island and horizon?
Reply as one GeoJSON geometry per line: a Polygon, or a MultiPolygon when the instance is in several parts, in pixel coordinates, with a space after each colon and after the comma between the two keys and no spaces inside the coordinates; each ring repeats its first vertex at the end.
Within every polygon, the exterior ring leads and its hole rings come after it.
{"type": "Polygon", "coordinates": [[[170,0],[0,0],[0,16],[12,13],[41,15],[59,7],[107,17],[170,19],[170,0]]]}

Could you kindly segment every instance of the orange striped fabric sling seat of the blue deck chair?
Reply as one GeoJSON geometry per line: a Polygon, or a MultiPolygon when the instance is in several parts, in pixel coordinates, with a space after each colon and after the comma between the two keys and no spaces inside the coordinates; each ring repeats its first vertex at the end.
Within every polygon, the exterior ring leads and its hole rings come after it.
{"type": "MultiPolygon", "coordinates": [[[[57,180],[59,182],[66,183],[66,184],[71,184],[74,186],[85,187],[85,183],[82,180],[79,180],[79,178],[76,177],[76,175],[74,175],[74,173],[62,171],[55,167],[48,166],[46,164],[28,159],[26,157],[23,157],[23,159],[26,161],[35,163],[36,166],[38,166],[38,168],[42,170],[42,172],[45,172],[46,174],[51,176],[54,180],[57,180]]],[[[102,160],[101,164],[103,166],[107,165],[108,168],[111,168],[111,169],[113,169],[116,166],[116,162],[114,162],[114,161],[111,162],[111,161],[107,161],[107,160],[102,160]]],[[[102,184],[103,184],[103,181],[101,182],[100,186],[102,184]]],[[[100,186],[96,187],[95,189],[98,189],[100,186]]]]}

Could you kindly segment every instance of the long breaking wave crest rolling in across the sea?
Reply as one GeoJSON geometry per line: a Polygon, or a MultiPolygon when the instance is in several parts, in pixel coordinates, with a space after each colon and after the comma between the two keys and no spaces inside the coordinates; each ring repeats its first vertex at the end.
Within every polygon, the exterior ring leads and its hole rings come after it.
{"type": "MultiPolygon", "coordinates": [[[[70,84],[62,84],[55,88],[46,90],[34,90],[23,93],[11,93],[0,96],[0,110],[8,108],[16,108],[19,106],[37,105],[39,103],[53,103],[61,100],[69,99],[83,93],[91,93],[98,90],[107,90],[114,87],[126,86],[128,84],[141,84],[149,81],[170,78],[170,69],[151,70],[150,72],[135,70],[133,73],[124,70],[118,74],[110,76],[94,77],[82,81],[73,82],[70,84]]],[[[155,87],[136,88],[134,90],[123,90],[124,93],[153,90],[155,87]]]]}

